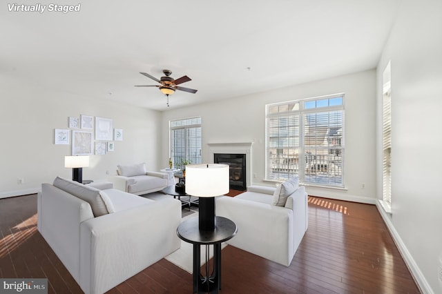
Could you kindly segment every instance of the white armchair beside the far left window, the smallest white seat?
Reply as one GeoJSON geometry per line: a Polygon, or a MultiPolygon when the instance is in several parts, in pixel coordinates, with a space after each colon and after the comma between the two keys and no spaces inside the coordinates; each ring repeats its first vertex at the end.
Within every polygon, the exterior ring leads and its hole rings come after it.
{"type": "Polygon", "coordinates": [[[135,195],[153,193],[175,184],[169,173],[146,170],[146,164],[117,166],[117,175],[108,179],[114,188],[135,195]]]}

